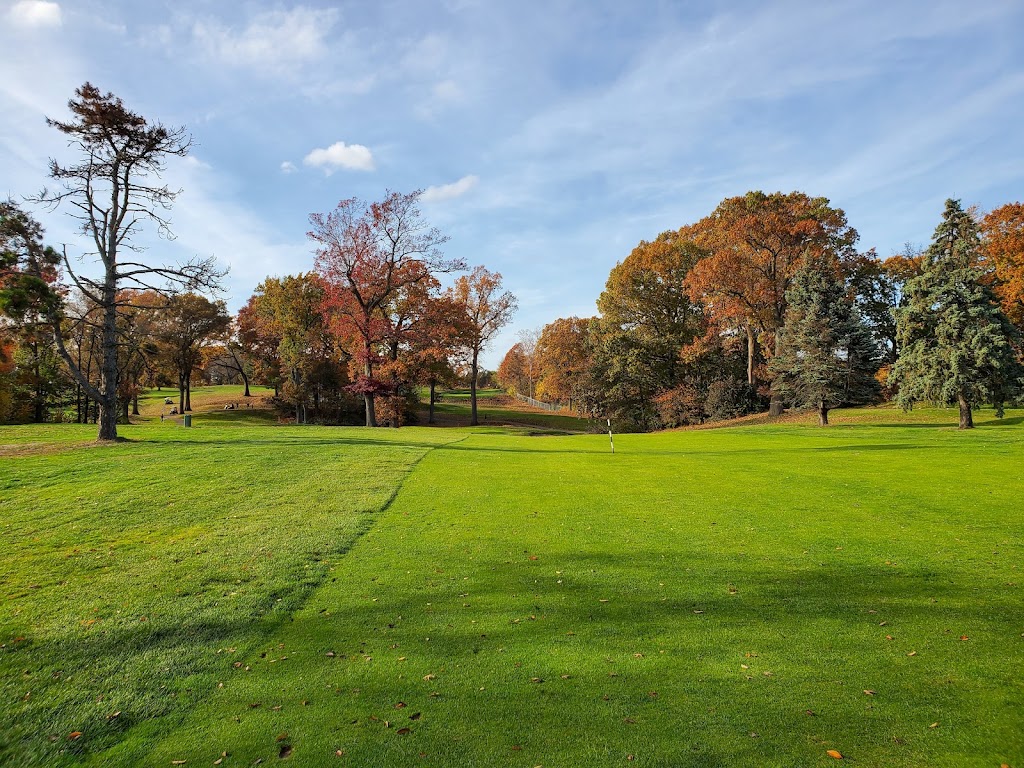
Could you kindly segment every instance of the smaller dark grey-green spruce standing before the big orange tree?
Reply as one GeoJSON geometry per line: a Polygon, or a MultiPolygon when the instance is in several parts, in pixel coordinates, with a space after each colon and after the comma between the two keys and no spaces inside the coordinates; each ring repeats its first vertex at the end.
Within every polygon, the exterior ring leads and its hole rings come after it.
{"type": "Polygon", "coordinates": [[[779,354],[769,365],[772,392],[798,408],[828,411],[878,397],[879,349],[839,274],[838,265],[809,259],[786,293],[779,354]]]}

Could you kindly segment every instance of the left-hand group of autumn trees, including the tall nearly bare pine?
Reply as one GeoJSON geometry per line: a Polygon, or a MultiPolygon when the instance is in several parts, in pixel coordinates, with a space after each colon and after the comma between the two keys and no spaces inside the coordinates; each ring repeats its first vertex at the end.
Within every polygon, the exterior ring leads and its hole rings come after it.
{"type": "Polygon", "coordinates": [[[267,278],[231,316],[213,259],[166,264],[145,253],[146,226],[172,237],[177,191],[161,181],[187,155],[182,128],[152,122],[86,83],[71,119],[47,120],[75,159],[50,163],[52,186],[29,204],[63,209],[77,255],[47,244],[26,207],[0,203],[0,422],[77,421],[101,440],[138,414],[141,390],[194,383],[273,387],[299,423],[400,426],[417,393],[466,380],[512,317],[515,297],[483,266],[446,258],[419,193],[343,200],[309,217],[314,269],[267,278]],[[95,271],[84,265],[95,262],[95,271]],[[446,289],[441,280],[451,276],[446,289]]]}

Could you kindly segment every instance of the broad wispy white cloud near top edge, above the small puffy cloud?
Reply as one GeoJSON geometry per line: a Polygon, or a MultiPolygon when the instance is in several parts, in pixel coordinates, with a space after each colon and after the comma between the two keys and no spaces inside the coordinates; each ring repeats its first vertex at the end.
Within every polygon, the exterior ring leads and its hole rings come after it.
{"type": "Polygon", "coordinates": [[[259,13],[241,30],[213,19],[200,20],[193,26],[193,37],[230,66],[280,72],[323,56],[337,19],[335,9],[299,5],[259,13]]]}

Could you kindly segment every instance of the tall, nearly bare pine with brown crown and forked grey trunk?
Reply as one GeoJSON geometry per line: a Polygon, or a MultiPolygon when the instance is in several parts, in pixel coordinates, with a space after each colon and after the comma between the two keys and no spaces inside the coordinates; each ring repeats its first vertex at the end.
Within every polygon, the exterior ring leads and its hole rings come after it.
{"type": "Polygon", "coordinates": [[[68,102],[69,122],[47,119],[47,125],[68,136],[69,145],[80,154],[77,163],[50,161],[55,189],[44,190],[36,202],[51,207],[66,203],[90,242],[83,258],[93,256],[102,267],[101,276],[87,276],[72,265],[67,249],[67,275],[93,302],[101,314],[100,376],[98,386],[89,381],[65,346],[60,318],[53,317],[54,340],[72,375],[99,407],[99,439],[117,439],[118,416],[118,310],[125,301],[124,289],[176,291],[212,290],[225,272],[212,258],[196,258],[174,266],[156,265],[141,256],[122,259],[127,251],[138,254],[133,243],[144,224],[156,224],[161,237],[172,238],[166,211],[178,191],[160,181],[167,158],[188,154],[191,139],[183,128],[150,123],[127,110],[113,93],[103,94],[86,83],[68,102]]]}

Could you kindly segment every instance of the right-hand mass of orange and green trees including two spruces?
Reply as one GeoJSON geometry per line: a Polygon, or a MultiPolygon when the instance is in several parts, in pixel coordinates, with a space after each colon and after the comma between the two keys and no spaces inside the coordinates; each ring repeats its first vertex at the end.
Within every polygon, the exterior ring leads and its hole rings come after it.
{"type": "Polygon", "coordinates": [[[1024,205],[946,202],[931,244],[856,250],[824,198],[752,191],[616,264],[594,317],[506,353],[517,394],[647,430],[881,399],[972,412],[1020,397],[1024,205]]]}

